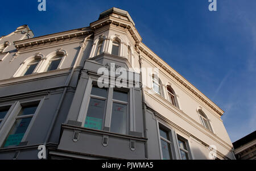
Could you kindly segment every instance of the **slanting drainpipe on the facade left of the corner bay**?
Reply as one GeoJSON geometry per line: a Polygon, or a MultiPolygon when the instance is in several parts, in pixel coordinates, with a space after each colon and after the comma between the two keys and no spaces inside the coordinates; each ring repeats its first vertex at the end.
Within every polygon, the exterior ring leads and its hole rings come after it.
{"type": "Polygon", "coordinates": [[[74,73],[74,71],[75,71],[76,64],[77,64],[78,59],[79,59],[79,57],[80,57],[80,55],[81,55],[82,49],[84,49],[84,47],[85,47],[85,42],[86,42],[86,40],[87,40],[90,36],[92,36],[92,35],[93,35],[93,34],[90,34],[89,36],[86,36],[85,39],[84,39],[84,41],[82,42],[82,45],[80,45],[79,54],[77,55],[76,61],[75,61],[74,65],[73,65],[73,67],[72,67],[71,73],[69,74],[69,76],[68,76],[68,78],[67,78],[67,81],[65,82],[65,88],[64,88],[63,94],[61,95],[59,105],[58,105],[58,107],[57,107],[57,109],[56,109],[56,111],[55,111],[54,118],[52,119],[51,125],[50,125],[50,127],[49,127],[48,132],[47,132],[46,139],[44,140],[44,146],[46,146],[46,144],[47,144],[47,142],[48,142],[48,140],[49,140],[49,137],[50,137],[51,134],[52,134],[53,126],[55,125],[57,116],[59,115],[60,107],[61,107],[61,105],[62,105],[62,103],[63,103],[63,101],[64,101],[64,97],[65,97],[65,94],[67,93],[67,89],[68,89],[67,87],[68,87],[68,85],[69,85],[70,82],[71,82],[71,78],[72,78],[73,73],[74,73]]]}

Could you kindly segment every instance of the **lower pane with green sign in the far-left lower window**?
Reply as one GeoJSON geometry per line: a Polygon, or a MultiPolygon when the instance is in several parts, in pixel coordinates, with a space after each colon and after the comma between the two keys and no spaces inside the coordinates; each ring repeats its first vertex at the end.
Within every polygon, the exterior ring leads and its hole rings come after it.
{"type": "Polygon", "coordinates": [[[9,135],[7,136],[5,145],[3,147],[19,145],[25,132],[27,131],[27,127],[30,124],[31,119],[32,119],[32,117],[16,119],[14,126],[13,126],[13,128],[11,128],[11,131],[10,131],[9,135]]]}

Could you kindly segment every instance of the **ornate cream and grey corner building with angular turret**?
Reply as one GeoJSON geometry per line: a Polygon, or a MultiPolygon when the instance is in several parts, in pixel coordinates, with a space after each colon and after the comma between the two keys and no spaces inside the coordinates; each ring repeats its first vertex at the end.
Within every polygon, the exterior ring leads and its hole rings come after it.
{"type": "Polygon", "coordinates": [[[0,159],[235,159],[224,111],[145,44],[129,13],[0,38],[0,159]],[[104,85],[103,87],[101,85],[104,85]]]}

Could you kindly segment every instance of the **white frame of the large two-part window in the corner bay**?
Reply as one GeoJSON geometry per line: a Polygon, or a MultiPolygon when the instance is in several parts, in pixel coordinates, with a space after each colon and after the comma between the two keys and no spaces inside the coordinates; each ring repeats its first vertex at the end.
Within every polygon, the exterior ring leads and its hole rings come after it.
{"type": "MultiPolygon", "coordinates": [[[[82,99],[79,116],[77,118],[77,121],[82,123],[81,127],[84,127],[84,123],[85,123],[85,119],[86,119],[86,115],[87,115],[87,111],[88,111],[88,107],[89,107],[90,98],[88,98],[88,97],[96,97],[95,95],[91,96],[91,90],[92,90],[92,86],[94,84],[93,82],[97,82],[97,78],[89,77],[87,85],[86,85],[85,93],[84,93],[84,98],[82,99]]],[[[117,90],[121,90],[121,89],[117,88],[117,90]]],[[[118,101],[116,99],[113,99],[113,91],[114,91],[113,87],[108,87],[108,97],[106,100],[107,106],[104,111],[105,112],[105,115],[103,118],[104,125],[102,126],[102,130],[104,130],[104,128],[109,128],[109,131],[110,131],[111,118],[112,118],[112,106],[113,106],[113,102],[116,102],[116,103],[121,103],[121,104],[127,105],[126,134],[129,134],[129,131],[135,131],[135,114],[133,112],[134,105],[133,105],[133,101],[132,101],[133,96],[134,96],[134,93],[133,93],[134,90],[133,90],[133,88],[127,89],[127,93],[128,93],[127,102],[118,101]]],[[[124,91],[126,91],[126,90],[124,90],[124,91]]],[[[100,98],[102,98],[102,97],[100,97],[100,98]]]]}

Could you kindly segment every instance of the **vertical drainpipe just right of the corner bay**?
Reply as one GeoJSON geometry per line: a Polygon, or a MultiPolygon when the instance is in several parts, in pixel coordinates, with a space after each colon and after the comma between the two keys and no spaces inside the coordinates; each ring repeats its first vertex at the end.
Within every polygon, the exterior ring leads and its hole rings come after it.
{"type": "MultiPolygon", "coordinates": [[[[136,45],[137,52],[139,53],[139,69],[140,69],[140,77],[142,82],[142,59],[141,59],[141,51],[139,51],[138,45],[136,45]]],[[[142,85],[141,87],[141,96],[142,96],[142,112],[143,112],[143,131],[144,131],[144,137],[147,138],[147,123],[146,123],[146,102],[145,102],[145,95],[144,95],[144,87],[142,85]]],[[[147,141],[145,143],[144,149],[145,149],[145,158],[148,159],[148,152],[147,152],[147,141]]]]}

